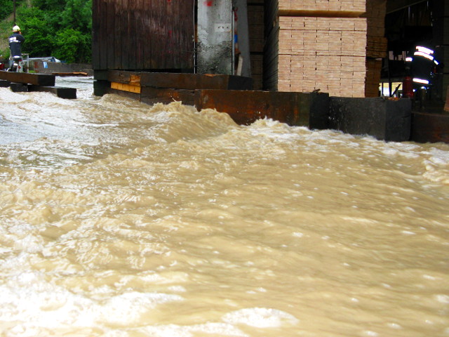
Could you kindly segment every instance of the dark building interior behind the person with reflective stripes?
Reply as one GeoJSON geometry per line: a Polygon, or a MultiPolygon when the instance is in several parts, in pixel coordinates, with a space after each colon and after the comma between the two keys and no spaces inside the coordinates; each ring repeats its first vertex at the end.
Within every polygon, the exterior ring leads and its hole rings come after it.
{"type": "MultiPolygon", "coordinates": [[[[422,44],[434,50],[440,63],[427,90],[427,105],[442,111],[449,84],[449,1],[387,0],[385,37],[388,54],[382,62],[382,81],[396,82],[408,74],[405,58],[422,44]]],[[[394,88],[393,88],[394,90],[394,88]]]]}

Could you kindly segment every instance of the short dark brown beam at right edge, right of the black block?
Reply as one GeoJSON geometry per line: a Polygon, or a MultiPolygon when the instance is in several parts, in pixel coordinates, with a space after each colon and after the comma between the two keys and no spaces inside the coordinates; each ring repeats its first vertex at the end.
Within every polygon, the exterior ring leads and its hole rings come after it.
{"type": "Polygon", "coordinates": [[[449,143],[449,114],[413,112],[410,139],[417,143],[449,143]]]}

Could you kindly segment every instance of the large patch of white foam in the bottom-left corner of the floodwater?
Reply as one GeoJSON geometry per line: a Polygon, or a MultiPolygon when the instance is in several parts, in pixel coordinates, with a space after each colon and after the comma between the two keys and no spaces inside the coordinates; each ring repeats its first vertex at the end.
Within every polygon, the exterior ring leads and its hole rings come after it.
{"type": "Polygon", "coordinates": [[[140,324],[141,316],[157,305],[183,300],[167,293],[133,290],[116,293],[108,287],[93,290],[94,296],[69,291],[47,282],[42,272],[27,270],[10,275],[0,284],[0,322],[15,323],[16,332],[11,336],[29,336],[29,331],[36,329],[67,326],[72,329],[105,328],[108,324],[133,326],[140,324]],[[102,296],[98,296],[100,292],[102,296]]]}

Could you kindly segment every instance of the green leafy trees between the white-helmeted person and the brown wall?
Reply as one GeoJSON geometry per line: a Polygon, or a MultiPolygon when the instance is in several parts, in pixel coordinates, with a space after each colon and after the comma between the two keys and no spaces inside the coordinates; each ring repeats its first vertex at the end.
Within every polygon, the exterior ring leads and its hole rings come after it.
{"type": "Polygon", "coordinates": [[[33,0],[17,17],[30,57],[91,62],[92,0],[33,0]]]}

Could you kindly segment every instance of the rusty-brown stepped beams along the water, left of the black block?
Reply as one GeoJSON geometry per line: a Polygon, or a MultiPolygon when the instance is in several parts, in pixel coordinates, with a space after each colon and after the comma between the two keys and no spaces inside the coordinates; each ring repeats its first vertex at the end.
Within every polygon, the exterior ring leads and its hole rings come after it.
{"type": "Polygon", "coordinates": [[[237,124],[251,124],[266,117],[295,126],[328,127],[327,93],[251,91],[252,80],[246,77],[112,70],[103,84],[100,92],[150,105],[181,101],[198,110],[212,108],[226,112],[237,124]]]}

